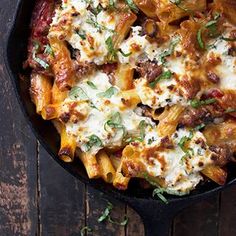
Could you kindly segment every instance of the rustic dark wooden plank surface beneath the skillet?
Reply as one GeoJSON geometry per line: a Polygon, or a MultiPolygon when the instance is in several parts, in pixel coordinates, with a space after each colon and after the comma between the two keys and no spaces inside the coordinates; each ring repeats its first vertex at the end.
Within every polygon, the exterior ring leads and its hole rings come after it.
{"type": "MultiPolygon", "coordinates": [[[[85,186],[55,163],[26,125],[3,62],[16,0],[0,1],[0,235],[76,236],[85,225],[98,236],[143,236],[140,217],[125,204],[85,186]],[[98,223],[109,200],[126,227],[98,223]]],[[[181,212],[173,236],[235,236],[236,187],[181,212]]],[[[90,235],[90,234],[89,234],[90,235]]]]}

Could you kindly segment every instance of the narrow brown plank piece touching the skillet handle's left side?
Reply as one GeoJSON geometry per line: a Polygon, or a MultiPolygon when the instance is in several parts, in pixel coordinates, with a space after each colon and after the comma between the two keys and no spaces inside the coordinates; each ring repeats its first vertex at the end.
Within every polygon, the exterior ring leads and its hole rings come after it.
{"type": "Polygon", "coordinates": [[[127,236],[144,236],[144,226],[140,216],[130,207],[127,207],[129,223],[127,225],[127,236]]]}

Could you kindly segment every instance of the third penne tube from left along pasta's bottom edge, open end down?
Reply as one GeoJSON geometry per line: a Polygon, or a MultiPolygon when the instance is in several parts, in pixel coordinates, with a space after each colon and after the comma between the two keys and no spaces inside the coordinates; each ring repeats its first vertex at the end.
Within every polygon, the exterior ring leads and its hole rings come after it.
{"type": "Polygon", "coordinates": [[[97,162],[99,165],[100,174],[104,181],[107,183],[112,183],[116,172],[105,151],[100,151],[97,154],[97,162]]]}

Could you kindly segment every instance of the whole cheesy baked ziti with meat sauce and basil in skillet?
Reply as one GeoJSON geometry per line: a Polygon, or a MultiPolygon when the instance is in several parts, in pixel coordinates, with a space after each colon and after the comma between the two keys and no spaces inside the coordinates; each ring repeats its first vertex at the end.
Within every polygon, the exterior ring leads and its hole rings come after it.
{"type": "Polygon", "coordinates": [[[235,0],[38,0],[31,98],[58,158],[125,190],[223,185],[236,152],[235,0]],[[141,185],[140,185],[141,187],[141,185]]]}

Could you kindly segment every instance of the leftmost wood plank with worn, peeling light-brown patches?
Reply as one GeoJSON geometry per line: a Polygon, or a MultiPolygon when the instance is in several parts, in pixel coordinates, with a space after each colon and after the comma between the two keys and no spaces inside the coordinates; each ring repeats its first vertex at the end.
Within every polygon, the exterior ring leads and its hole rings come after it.
{"type": "Polygon", "coordinates": [[[37,233],[36,140],[23,119],[2,58],[13,3],[1,0],[0,9],[0,235],[28,236],[37,233]]]}

